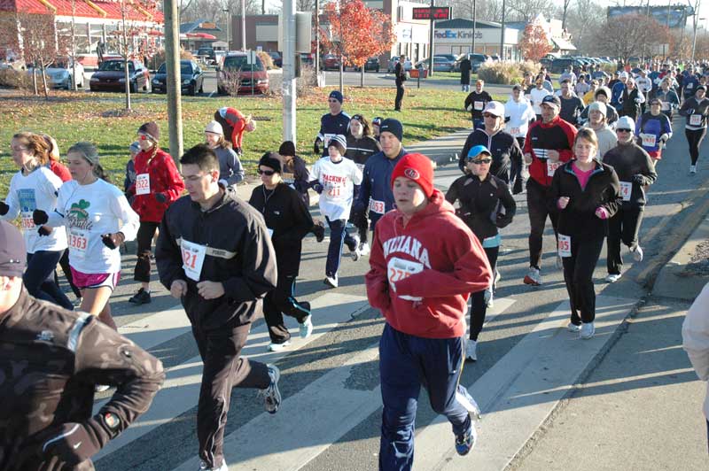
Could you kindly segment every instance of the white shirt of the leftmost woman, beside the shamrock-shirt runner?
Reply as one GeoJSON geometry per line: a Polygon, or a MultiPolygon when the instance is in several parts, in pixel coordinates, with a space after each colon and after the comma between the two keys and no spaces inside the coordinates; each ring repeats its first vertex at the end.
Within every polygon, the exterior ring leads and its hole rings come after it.
{"type": "Polygon", "coordinates": [[[32,221],[32,212],[40,209],[47,214],[57,207],[57,191],[62,181],[49,168],[39,166],[27,175],[19,171],[12,176],[10,191],[5,204],[10,206],[4,220],[22,219],[22,234],[25,236],[27,253],[35,251],[63,251],[66,249],[66,232],[56,228],[50,235],[40,236],[32,221]]]}

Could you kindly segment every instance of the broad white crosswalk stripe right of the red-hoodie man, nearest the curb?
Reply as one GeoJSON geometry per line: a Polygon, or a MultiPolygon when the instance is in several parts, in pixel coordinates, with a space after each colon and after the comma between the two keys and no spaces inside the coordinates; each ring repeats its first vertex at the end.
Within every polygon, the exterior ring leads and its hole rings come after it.
{"type": "MultiPolygon", "coordinates": [[[[457,457],[445,417],[417,434],[415,469],[421,471],[498,471],[526,444],[565,397],[580,374],[619,328],[635,300],[596,297],[596,336],[580,340],[565,328],[565,301],[525,336],[478,381],[468,386],[483,411],[479,444],[457,457]]],[[[484,347],[484,344],[483,344],[484,347]]]]}

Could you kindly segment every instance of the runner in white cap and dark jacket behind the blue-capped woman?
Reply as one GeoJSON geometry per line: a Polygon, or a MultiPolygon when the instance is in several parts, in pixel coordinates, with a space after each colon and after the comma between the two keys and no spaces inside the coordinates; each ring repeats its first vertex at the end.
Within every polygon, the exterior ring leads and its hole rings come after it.
{"type": "Polygon", "coordinates": [[[517,139],[503,131],[504,106],[500,102],[490,102],[483,112],[485,127],[475,129],[465,140],[458,167],[465,172],[468,167],[468,152],[476,145],[484,145],[493,153],[493,163],[489,171],[506,184],[512,185],[514,194],[522,192],[522,151],[517,139]],[[464,156],[464,157],[463,157],[464,156]]]}

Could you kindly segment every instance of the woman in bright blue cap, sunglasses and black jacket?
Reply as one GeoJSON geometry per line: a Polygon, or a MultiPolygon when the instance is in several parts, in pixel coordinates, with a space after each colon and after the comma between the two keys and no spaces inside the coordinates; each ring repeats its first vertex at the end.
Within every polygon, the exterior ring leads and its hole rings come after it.
{"type": "Polygon", "coordinates": [[[477,361],[478,336],[485,323],[487,307],[493,305],[495,284],[500,279],[497,255],[502,239],[497,229],[512,222],[517,205],[507,184],[490,173],[493,158],[487,147],[473,147],[468,151],[467,161],[470,173],[450,185],[446,200],[451,205],[460,201],[460,209],[456,213],[482,243],[487,263],[495,274],[486,290],[471,293],[471,334],[465,345],[465,358],[477,361]]]}

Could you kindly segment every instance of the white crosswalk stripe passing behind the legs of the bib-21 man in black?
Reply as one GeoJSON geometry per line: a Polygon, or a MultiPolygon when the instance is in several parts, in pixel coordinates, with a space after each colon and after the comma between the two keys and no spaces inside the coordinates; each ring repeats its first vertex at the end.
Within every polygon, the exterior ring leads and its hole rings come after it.
{"type": "MultiPolygon", "coordinates": [[[[352,313],[359,312],[368,306],[366,297],[340,293],[326,293],[313,299],[310,305],[315,327],[312,336],[307,339],[301,339],[297,334],[296,328],[290,347],[278,352],[266,351],[270,340],[268,328],[265,323],[262,323],[253,328],[251,334],[249,334],[243,354],[249,359],[257,359],[268,363],[275,362],[277,359],[299,351],[303,346],[336,328],[339,323],[350,320],[352,313]]],[[[186,317],[184,313],[182,313],[182,316],[186,317]]],[[[295,324],[295,321],[287,318],[286,323],[295,324]]],[[[292,325],[288,327],[293,328],[292,325]]],[[[160,427],[160,425],[171,421],[176,416],[197,405],[202,378],[202,360],[199,356],[188,359],[176,367],[168,368],[166,373],[166,381],[158,395],[153,399],[148,412],[144,413],[140,420],[125,430],[120,436],[106,444],[104,449],[95,455],[95,460],[101,459],[107,454],[130,444],[152,429],[160,427]]],[[[105,402],[101,401],[94,405],[94,413],[97,413],[105,402]]]]}

